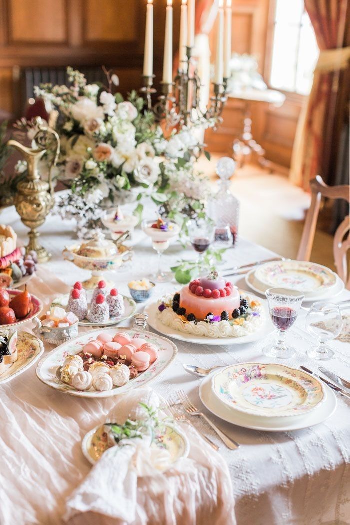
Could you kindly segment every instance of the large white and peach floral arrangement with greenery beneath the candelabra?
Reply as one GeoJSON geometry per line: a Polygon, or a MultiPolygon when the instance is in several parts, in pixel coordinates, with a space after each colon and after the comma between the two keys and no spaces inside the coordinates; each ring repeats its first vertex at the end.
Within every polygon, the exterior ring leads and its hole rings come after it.
{"type": "MultiPolygon", "coordinates": [[[[110,71],[105,70],[108,86],[88,85],[79,71],[67,72],[69,86],[35,88],[37,97],[58,110],[57,180],[70,190],[58,203],[58,213],[76,218],[87,229],[106,207],[141,201],[144,194],[151,194],[162,213],[174,219],[200,212],[207,190],[203,178],[194,173],[194,161],[203,149],[196,134],[184,128],[166,137],[135,91],[128,100],[113,92],[119,80],[110,71]]],[[[22,122],[25,126],[33,136],[29,123],[22,122]]],[[[141,212],[140,203],[136,213],[141,212]]]]}

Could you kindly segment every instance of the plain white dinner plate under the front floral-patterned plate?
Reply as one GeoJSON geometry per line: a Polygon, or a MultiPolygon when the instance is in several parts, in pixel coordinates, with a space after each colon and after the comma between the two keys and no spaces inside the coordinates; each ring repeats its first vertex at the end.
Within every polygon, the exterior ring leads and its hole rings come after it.
{"type": "Polygon", "coordinates": [[[224,421],[243,428],[252,430],[264,430],[266,432],[290,432],[301,430],[314,425],[319,425],[334,414],[337,407],[337,398],[331,388],[327,389],[327,397],[324,403],[310,414],[295,417],[258,417],[251,414],[243,414],[230,409],[218,402],[211,388],[213,375],[205,377],[199,386],[199,396],[204,406],[215,416],[224,421]]]}

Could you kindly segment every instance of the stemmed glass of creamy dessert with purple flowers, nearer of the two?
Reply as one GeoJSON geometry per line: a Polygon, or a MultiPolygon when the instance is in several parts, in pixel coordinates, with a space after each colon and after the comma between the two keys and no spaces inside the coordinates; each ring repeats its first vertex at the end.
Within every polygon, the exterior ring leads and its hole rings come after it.
{"type": "Polygon", "coordinates": [[[159,218],[158,220],[144,220],[142,229],[146,235],[151,237],[153,249],[158,254],[158,271],[151,275],[151,279],[157,282],[168,282],[173,278],[172,272],[162,270],[162,255],[170,246],[170,240],[177,237],[180,233],[180,227],[176,223],[166,222],[159,218]]]}

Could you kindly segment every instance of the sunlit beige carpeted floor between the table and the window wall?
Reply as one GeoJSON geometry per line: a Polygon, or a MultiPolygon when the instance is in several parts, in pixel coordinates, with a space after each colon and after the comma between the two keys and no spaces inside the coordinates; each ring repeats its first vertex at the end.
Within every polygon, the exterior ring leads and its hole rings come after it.
{"type": "MultiPolygon", "coordinates": [[[[215,154],[210,162],[205,158],[199,162],[199,169],[213,180],[213,184],[218,180],[215,166],[219,158],[220,155],[215,154]]],[[[286,176],[269,174],[254,164],[236,171],[231,190],[241,203],[240,235],[294,259],[310,195],[290,184],[286,176]]],[[[335,269],[333,238],[320,229],[316,233],[311,260],[335,269]]]]}

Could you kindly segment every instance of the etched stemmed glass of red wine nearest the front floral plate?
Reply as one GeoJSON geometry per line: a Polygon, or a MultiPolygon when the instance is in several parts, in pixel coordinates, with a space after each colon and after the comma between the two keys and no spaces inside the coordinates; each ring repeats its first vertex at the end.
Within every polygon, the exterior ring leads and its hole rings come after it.
{"type": "Polygon", "coordinates": [[[296,290],[270,288],[266,292],[266,297],[272,322],[278,330],[278,339],[273,346],[266,346],[263,352],[270,357],[289,359],[293,357],[295,350],[291,346],[287,346],[285,335],[295,323],[305,296],[296,290]]]}

